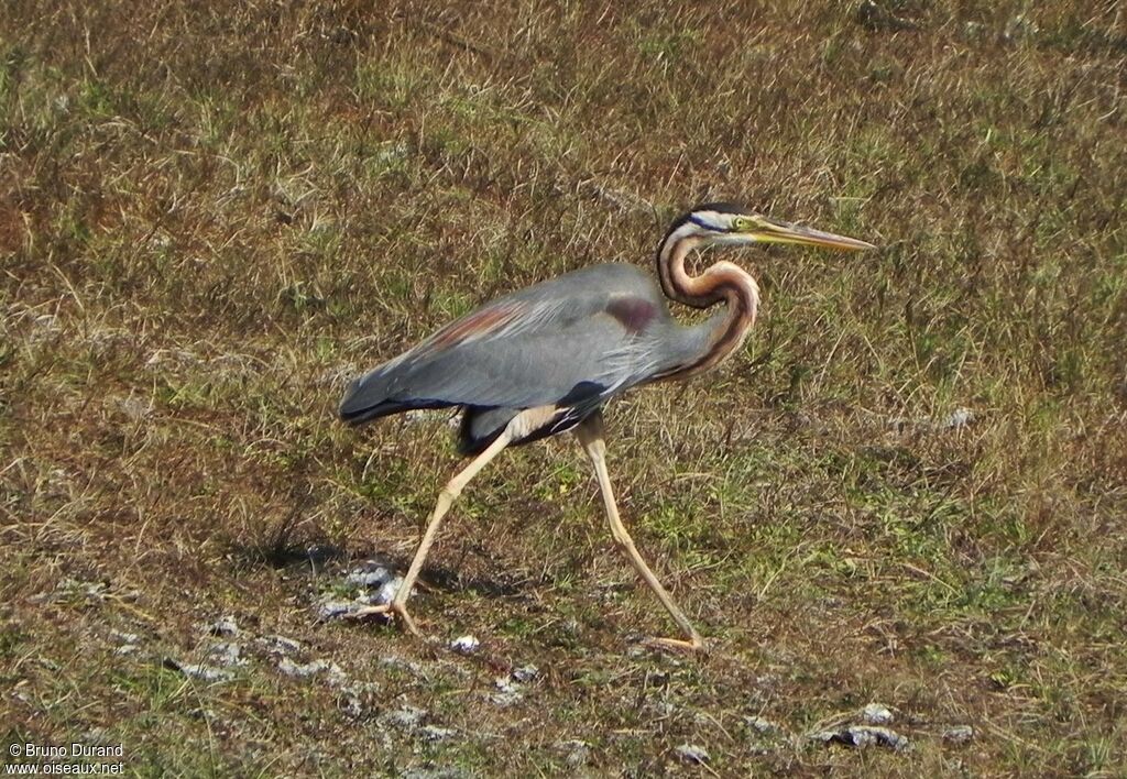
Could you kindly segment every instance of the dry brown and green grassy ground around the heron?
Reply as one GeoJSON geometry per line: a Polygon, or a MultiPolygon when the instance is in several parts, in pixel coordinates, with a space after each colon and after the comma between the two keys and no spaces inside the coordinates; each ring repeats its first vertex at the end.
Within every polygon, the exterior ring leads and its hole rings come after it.
{"type": "Polygon", "coordinates": [[[1120,2],[5,2],[7,741],[144,776],[1122,776],[1125,62],[1120,2]],[[638,647],[672,627],[569,437],[455,507],[433,641],[318,621],[456,466],[441,415],[340,426],[347,379],[648,264],[713,196],[882,249],[729,257],[745,349],[609,411],[711,653],[638,647]],[[230,679],[166,662],[219,641],[230,679]],[[869,702],[908,750],[808,737],[869,702]]]}

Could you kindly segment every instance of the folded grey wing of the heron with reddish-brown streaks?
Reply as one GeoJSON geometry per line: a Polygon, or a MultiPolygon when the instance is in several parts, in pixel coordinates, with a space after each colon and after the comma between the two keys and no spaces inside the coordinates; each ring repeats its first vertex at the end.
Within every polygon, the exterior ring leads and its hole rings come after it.
{"type": "Polygon", "coordinates": [[[656,370],[644,330],[668,313],[655,294],[648,280],[605,269],[502,299],[354,382],[340,416],[358,424],[409,408],[465,406],[478,409],[467,421],[472,428],[504,419],[503,409],[589,413],[656,370]],[[604,283],[592,289],[592,281],[604,283]]]}

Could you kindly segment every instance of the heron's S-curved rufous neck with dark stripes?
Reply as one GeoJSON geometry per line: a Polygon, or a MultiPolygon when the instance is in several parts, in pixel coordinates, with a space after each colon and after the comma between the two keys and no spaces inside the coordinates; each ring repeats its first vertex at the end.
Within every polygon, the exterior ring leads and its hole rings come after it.
{"type": "Polygon", "coordinates": [[[682,228],[666,236],[657,250],[657,275],[667,298],[696,309],[726,304],[725,315],[711,325],[703,352],[668,375],[691,375],[718,365],[744,343],[758,311],[760,285],[738,265],[721,260],[699,276],[685,272],[685,257],[703,242],[682,228]]]}

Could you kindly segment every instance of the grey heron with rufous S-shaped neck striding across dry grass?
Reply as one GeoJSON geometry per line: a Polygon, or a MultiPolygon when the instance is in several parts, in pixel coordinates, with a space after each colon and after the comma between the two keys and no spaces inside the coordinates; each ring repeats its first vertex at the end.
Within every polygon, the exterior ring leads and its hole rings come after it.
{"type": "Polygon", "coordinates": [[[633,387],[715,369],[740,347],[760,306],[755,278],[726,260],[693,276],[685,262],[707,247],[757,244],[876,248],[740,205],[706,203],[669,225],[657,248],[656,281],[630,264],[573,271],[478,308],[353,381],[340,404],[344,422],[360,425],[411,409],[460,408],[459,450],[473,458],[438,494],[391,602],[354,616],[398,618],[418,636],[407,601],[458,496],[503,450],[574,431],[594,469],[612,537],[683,635],[648,643],[701,649],[701,635],[642,559],[619,516],[602,409],[633,387]],[[667,301],[722,308],[700,324],[682,325],[667,301]]]}

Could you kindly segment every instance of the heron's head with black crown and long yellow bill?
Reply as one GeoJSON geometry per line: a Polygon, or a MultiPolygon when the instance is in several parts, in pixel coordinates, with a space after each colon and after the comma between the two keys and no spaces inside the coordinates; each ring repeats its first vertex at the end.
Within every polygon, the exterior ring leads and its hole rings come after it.
{"type": "Polygon", "coordinates": [[[672,232],[678,232],[685,238],[696,238],[701,246],[798,244],[846,251],[877,248],[855,238],[783,222],[731,203],[699,205],[678,219],[671,229],[672,232]]]}

